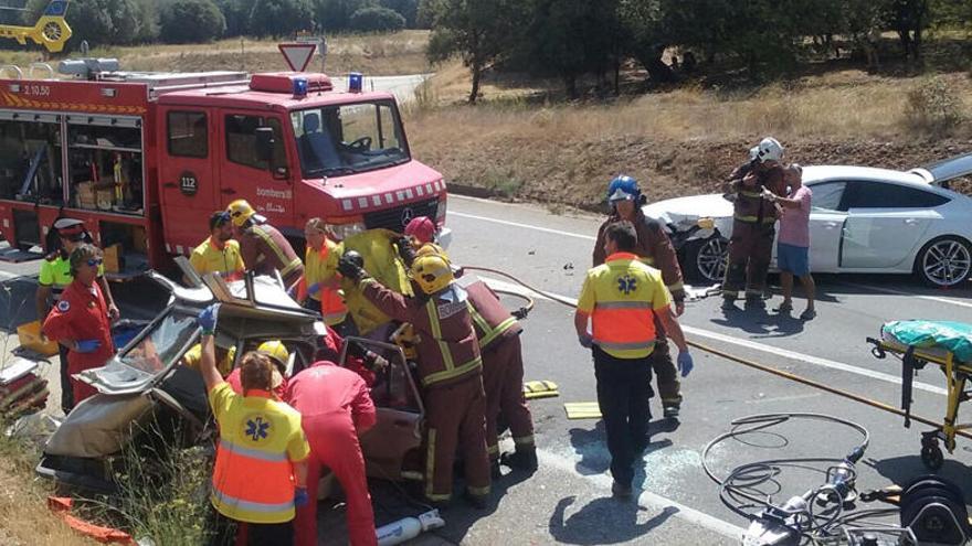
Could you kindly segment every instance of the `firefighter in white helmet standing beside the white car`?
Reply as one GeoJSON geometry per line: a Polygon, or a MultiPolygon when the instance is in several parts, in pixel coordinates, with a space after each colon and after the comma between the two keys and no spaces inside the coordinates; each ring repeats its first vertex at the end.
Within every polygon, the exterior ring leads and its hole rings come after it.
{"type": "Polygon", "coordinates": [[[762,189],[786,196],[783,182],[783,147],[773,138],[764,138],[756,149],[756,159],[729,175],[725,190],[733,195],[732,237],[729,239],[729,264],[722,281],[722,309],[736,309],[739,291],[746,288],[746,306],[765,307],[763,291],[773,253],[773,237],[779,207],[762,196],[762,189]]]}

